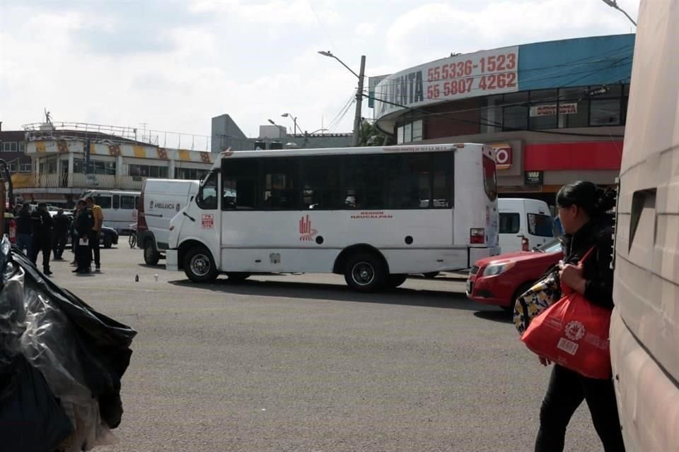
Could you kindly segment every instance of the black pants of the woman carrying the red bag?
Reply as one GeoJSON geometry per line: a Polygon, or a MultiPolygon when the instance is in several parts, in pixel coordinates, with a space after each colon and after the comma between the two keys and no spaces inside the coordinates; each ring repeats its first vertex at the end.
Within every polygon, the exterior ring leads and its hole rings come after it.
{"type": "Polygon", "coordinates": [[[535,452],[564,450],[566,427],[583,400],[605,452],[624,452],[612,380],[588,379],[565,367],[554,366],[550,386],[540,408],[540,431],[535,452]]]}

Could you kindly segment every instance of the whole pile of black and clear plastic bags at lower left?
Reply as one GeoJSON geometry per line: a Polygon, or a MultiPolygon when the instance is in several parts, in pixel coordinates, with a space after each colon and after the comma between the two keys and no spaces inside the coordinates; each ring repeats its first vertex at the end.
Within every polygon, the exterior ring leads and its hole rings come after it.
{"type": "Polygon", "coordinates": [[[0,452],[114,444],[120,379],[137,334],[0,242],[0,452]]]}

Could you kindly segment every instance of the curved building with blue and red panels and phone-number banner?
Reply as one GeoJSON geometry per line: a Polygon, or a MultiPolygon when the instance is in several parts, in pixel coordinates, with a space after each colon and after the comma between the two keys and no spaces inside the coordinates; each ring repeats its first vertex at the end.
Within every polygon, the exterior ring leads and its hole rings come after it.
{"type": "Polygon", "coordinates": [[[455,55],[371,83],[378,129],[396,143],[497,148],[502,196],[553,204],[563,184],[615,183],[634,35],[455,55]]]}

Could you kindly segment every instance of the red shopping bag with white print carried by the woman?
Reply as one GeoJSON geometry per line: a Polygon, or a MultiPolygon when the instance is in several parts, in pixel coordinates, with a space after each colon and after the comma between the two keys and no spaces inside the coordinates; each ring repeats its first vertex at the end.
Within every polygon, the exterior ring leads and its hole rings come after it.
{"type": "Polygon", "coordinates": [[[521,340],[536,355],[567,369],[593,379],[610,379],[610,313],[571,292],[535,317],[521,340]]]}

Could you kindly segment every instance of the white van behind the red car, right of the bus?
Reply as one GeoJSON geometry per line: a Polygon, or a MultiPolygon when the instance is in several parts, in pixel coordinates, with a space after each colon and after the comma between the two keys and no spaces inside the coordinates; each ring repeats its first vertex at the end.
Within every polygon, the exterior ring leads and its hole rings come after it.
{"type": "Polygon", "coordinates": [[[554,237],[552,213],[545,201],[500,198],[500,248],[503,253],[528,251],[554,237]]]}

